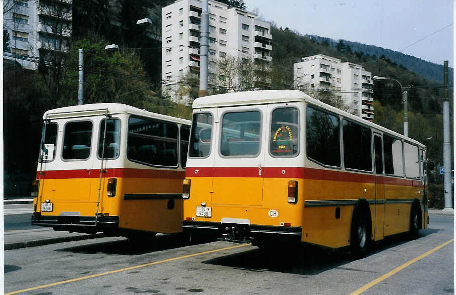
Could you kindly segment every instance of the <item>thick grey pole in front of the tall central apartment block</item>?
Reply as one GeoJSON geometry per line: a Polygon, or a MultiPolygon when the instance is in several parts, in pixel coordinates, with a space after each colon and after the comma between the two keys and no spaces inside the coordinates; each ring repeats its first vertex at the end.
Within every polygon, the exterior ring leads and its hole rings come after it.
{"type": "Polygon", "coordinates": [[[207,95],[207,72],[209,57],[209,2],[203,0],[201,8],[201,51],[199,65],[198,97],[207,95]]]}

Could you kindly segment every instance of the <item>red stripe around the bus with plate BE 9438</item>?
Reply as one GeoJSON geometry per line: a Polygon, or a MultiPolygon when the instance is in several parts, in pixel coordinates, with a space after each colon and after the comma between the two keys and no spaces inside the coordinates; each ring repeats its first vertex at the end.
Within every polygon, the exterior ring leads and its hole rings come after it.
{"type": "MultiPolygon", "coordinates": [[[[374,183],[374,174],[325,170],[303,167],[262,167],[261,176],[258,167],[187,167],[186,177],[265,177],[265,178],[299,178],[328,181],[374,183]]],[[[377,176],[378,183],[400,186],[421,186],[421,181],[377,176]]]]}

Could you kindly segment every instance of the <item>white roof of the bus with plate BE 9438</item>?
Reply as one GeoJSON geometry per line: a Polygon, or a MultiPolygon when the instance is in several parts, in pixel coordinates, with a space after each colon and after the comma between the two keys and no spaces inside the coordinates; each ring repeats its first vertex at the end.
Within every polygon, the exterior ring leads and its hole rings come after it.
{"type": "Polygon", "coordinates": [[[341,116],[347,117],[353,121],[361,124],[371,126],[379,131],[390,133],[396,137],[402,138],[409,142],[425,147],[422,143],[405,137],[402,134],[394,132],[390,129],[377,125],[375,123],[364,120],[358,116],[352,115],[346,111],[340,110],[336,107],[330,106],[324,102],[310,97],[300,90],[259,90],[259,91],[245,91],[236,93],[216,94],[196,98],[193,102],[193,109],[209,108],[209,107],[227,107],[227,106],[242,106],[242,105],[256,105],[268,103],[283,103],[283,102],[306,102],[313,105],[320,106],[331,112],[337,113],[341,116]]]}

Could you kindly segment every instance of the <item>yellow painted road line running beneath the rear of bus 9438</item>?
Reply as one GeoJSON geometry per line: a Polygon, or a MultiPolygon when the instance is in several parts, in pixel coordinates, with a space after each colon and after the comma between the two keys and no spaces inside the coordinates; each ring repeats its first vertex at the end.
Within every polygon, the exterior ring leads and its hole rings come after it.
{"type": "Polygon", "coordinates": [[[175,258],[169,258],[169,259],[165,259],[165,260],[150,262],[150,263],[146,263],[146,264],[131,266],[131,267],[117,269],[117,270],[112,270],[112,271],[108,271],[108,272],[87,275],[87,276],[73,278],[73,279],[69,279],[69,280],[63,280],[63,281],[59,281],[59,282],[55,282],[55,283],[51,283],[51,284],[47,284],[47,285],[32,287],[32,288],[23,289],[23,290],[18,290],[18,291],[14,291],[14,292],[11,292],[11,293],[6,293],[5,295],[18,294],[18,293],[22,293],[22,292],[28,292],[28,291],[37,290],[37,289],[43,289],[43,288],[47,288],[47,287],[52,287],[52,286],[57,286],[57,285],[61,285],[61,284],[74,282],[74,281],[79,281],[79,280],[89,279],[89,278],[93,278],[93,277],[98,277],[98,276],[118,273],[118,272],[122,272],[122,271],[137,269],[137,268],[146,267],[146,266],[150,266],[150,265],[160,264],[160,263],[164,263],[164,262],[170,262],[170,261],[174,261],[174,260],[179,260],[179,259],[184,259],[184,258],[189,258],[189,257],[194,257],[194,256],[214,253],[214,252],[220,252],[220,251],[234,249],[234,248],[239,248],[239,247],[244,247],[244,246],[248,246],[248,245],[250,245],[250,244],[241,244],[241,245],[226,247],[226,248],[222,248],[222,249],[210,250],[210,251],[205,251],[205,252],[200,252],[200,253],[195,253],[195,254],[190,254],[190,255],[185,255],[185,256],[179,256],[179,257],[175,257],[175,258]]]}

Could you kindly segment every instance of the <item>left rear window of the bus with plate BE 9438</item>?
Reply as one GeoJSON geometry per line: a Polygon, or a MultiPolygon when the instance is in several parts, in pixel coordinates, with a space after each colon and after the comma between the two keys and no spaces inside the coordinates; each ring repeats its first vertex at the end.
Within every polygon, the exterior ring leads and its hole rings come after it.
{"type": "Polygon", "coordinates": [[[188,156],[209,156],[212,141],[212,124],[213,118],[210,113],[199,113],[193,115],[188,156]]]}

